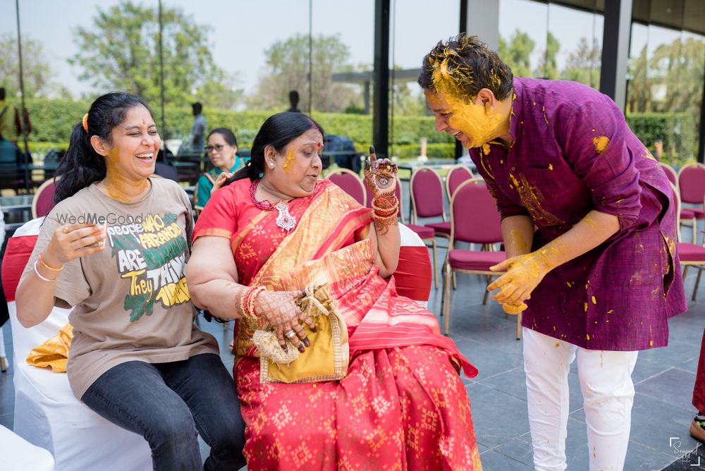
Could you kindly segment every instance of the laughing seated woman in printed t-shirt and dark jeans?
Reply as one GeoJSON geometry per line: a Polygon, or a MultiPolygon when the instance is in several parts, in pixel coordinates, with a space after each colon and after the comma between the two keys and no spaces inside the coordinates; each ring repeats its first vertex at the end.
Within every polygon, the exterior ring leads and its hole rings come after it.
{"type": "Polygon", "coordinates": [[[154,470],[237,470],[238,396],[215,338],[193,322],[191,207],[178,183],[151,178],[160,144],[142,99],[93,102],[56,171],[57,204],[20,279],[17,317],[31,327],[71,307],[73,393],[144,436],[154,470]],[[80,224],[87,217],[104,222],[80,224]],[[198,435],[211,447],[205,464],[198,435]]]}

